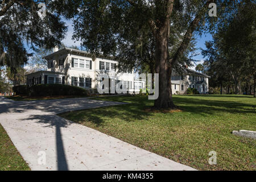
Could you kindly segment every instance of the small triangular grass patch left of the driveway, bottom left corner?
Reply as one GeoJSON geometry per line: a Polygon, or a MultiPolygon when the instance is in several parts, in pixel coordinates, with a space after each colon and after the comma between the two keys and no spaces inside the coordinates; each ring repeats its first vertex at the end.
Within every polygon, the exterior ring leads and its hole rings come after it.
{"type": "Polygon", "coordinates": [[[0,171],[29,171],[27,163],[16,150],[0,124],[0,171]]]}

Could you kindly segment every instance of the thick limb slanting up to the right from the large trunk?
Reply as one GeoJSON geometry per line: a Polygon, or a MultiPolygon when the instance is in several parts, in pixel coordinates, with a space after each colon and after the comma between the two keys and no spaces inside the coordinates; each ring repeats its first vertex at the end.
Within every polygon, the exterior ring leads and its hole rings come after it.
{"type": "MultiPolygon", "coordinates": [[[[210,3],[214,2],[214,0],[208,0],[203,9],[206,7],[208,9],[208,6],[210,3]]],[[[204,10],[200,10],[199,13],[196,15],[195,19],[193,19],[193,21],[191,22],[191,24],[188,27],[187,32],[184,35],[183,41],[180,44],[180,47],[177,49],[174,57],[171,59],[170,64],[174,65],[177,63],[177,61],[180,59],[180,57],[183,55],[185,49],[187,49],[188,44],[193,36],[193,32],[196,30],[196,27],[198,26],[201,16],[203,16],[205,14],[204,10]]]]}

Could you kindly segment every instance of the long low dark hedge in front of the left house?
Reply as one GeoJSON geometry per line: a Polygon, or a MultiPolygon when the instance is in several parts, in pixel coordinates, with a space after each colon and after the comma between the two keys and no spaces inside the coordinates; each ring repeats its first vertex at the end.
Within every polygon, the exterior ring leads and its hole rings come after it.
{"type": "Polygon", "coordinates": [[[87,96],[90,90],[78,86],[61,84],[39,84],[28,87],[27,85],[14,86],[16,94],[27,96],[87,96]]]}

